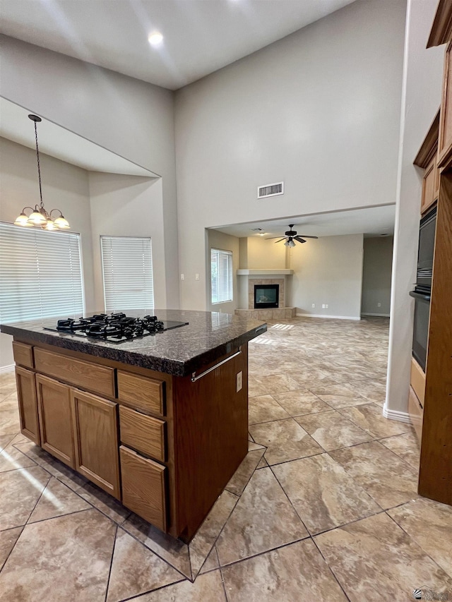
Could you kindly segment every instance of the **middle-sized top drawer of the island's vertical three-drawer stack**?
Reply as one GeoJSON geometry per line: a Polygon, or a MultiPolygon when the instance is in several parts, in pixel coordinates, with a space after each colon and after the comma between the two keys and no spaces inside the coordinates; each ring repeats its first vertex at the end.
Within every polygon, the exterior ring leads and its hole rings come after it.
{"type": "Polygon", "coordinates": [[[165,383],[118,370],[118,399],[138,410],[165,415],[165,383]]]}

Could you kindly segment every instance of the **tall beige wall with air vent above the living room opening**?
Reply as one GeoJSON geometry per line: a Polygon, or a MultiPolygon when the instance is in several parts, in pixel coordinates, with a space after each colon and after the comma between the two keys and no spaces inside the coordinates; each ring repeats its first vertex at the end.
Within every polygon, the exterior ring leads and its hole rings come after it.
{"type": "Polygon", "coordinates": [[[404,1],[355,2],[176,93],[181,272],[206,273],[206,227],[394,202],[404,25],[404,1]]]}

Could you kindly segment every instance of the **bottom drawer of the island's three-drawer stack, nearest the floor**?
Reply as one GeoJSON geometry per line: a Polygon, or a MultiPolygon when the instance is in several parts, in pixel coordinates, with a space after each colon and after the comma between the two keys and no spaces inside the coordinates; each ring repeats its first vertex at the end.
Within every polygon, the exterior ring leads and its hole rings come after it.
{"type": "Polygon", "coordinates": [[[167,469],[127,447],[119,447],[122,503],[162,531],[167,530],[165,478],[167,469]]]}

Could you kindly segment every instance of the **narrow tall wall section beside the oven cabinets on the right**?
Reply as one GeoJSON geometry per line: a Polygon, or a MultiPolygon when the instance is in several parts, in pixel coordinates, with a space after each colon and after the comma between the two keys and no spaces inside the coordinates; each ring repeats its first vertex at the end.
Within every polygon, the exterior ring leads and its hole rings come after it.
{"type": "Polygon", "coordinates": [[[412,162],[441,102],[444,47],[426,50],[436,0],[409,0],[405,40],[402,124],[398,164],[398,198],[389,331],[386,416],[408,411],[408,387],[414,300],[408,295],[416,279],[421,170],[412,162]]]}

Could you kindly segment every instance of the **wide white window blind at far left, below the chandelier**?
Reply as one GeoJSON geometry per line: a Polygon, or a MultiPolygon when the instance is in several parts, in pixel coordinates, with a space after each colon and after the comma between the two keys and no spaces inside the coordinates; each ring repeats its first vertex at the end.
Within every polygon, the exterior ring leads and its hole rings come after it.
{"type": "Polygon", "coordinates": [[[4,323],[83,315],[80,235],[0,224],[4,323]]]}

